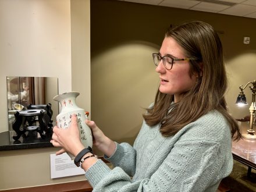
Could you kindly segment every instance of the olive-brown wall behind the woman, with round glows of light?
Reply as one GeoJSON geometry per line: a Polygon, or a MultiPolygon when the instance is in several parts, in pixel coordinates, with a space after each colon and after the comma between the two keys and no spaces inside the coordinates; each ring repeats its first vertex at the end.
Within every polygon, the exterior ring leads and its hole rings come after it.
{"type": "MultiPolygon", "coordinates": [[[[154,101],[158,74],[152,52],[158,52],[167,27],[202,20],[222,40],[229,91],[226,99],[235,118],[248,114],[234,105],[239,85],[256,79],[256,19],[166,8],[123,1],[91,1],[92,119],[116,141],[133,143],[143,109],[154,101]],[[251,44],[243,44],[250,37],[251,44]]],[[[251,101],[250,91],[246,91],[251,101]]]]}

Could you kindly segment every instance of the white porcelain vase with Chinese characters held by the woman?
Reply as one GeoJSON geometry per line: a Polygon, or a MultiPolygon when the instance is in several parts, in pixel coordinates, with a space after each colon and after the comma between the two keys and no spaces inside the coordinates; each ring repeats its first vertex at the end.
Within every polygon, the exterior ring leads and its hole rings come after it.
{"type": "MultiPolygon", "coordinates": [[[[93,147],[93,136],[91,134],[91,129],[86,125],[85,120],[87,116],[84,109],[79,108],[76,105],[76,97],[79,95],[78,92],[68,92],[56,95],[54,97],[55,101],[61,104],[61,112],[57,115],[57,125],[59,128],[67,129],[71,123],[71,117],[73,114],[77,115],[77,124],[80,130],[81,143],[84,147],[93,147]]],[[[70,158],[74,159],[73,155],[68,154],[70,158]]]]}

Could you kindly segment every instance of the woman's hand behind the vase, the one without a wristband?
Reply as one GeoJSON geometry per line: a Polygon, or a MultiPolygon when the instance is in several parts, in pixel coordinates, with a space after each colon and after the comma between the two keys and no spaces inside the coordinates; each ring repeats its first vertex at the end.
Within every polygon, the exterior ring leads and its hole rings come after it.
{"type": "Polygon", "coordinates": [[[106,137],[94,121],[86,119],[86,124],[91,128],[93,145],[101,150],[106,156],[111,157],[116,150],[115,142],[106,137]]]}

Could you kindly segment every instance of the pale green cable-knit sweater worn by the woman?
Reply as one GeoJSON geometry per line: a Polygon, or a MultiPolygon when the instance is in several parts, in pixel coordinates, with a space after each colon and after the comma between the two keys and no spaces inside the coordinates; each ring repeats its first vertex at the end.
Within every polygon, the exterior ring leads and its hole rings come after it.
{"type": "Polygon", "coordinates": [[[94,191],[216,191],[233,168],[229,125],[221,113],[209,112],[163,137],[159,125],[145,122],[134,146],[116,143],[112,157],[86,172],[94,191]]]}

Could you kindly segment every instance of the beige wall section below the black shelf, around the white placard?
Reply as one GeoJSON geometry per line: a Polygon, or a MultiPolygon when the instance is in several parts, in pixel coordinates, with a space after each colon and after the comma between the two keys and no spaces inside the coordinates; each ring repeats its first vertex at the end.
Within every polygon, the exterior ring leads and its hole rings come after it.
{"type": "Polygon", "coordinates": [[[56,148],[0,151],[0,190],[84,180],[84,175],[51,179],[50,154],[56,148]]]}

